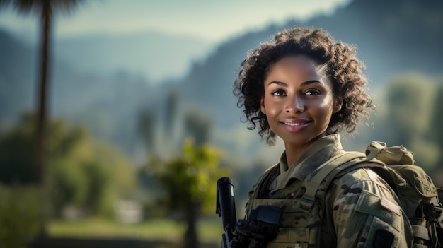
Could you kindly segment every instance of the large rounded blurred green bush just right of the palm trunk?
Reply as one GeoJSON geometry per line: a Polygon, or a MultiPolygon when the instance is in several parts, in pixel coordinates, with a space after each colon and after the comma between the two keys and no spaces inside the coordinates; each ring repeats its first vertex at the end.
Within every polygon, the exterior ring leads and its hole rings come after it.
{"type": "Polygon", "coordinates": [[[130,161],[120,149],[92,141],[86,129],[52,124],[48,180],[57,214],[74,206],[92,215],[113,215],[115,201],[128,197],[135,187],[130,161]]]}

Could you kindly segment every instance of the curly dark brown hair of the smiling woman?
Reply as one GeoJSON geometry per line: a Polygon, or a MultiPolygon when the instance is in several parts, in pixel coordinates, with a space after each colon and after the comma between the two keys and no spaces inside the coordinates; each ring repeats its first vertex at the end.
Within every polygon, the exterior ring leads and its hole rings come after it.
{"type": "Polygon", "coordinates": [[[335,42],[321,29],[293,28],[277,33],[273,42],[264,43],[248,53],[241,63],[238,78],[234,81],[237,106],[243,108],[248,129],[260,124],[258,134],[266,136],[268,144],[275,143],[275,134],[270,130],[266,115],[260,111],[264,94],[263,83],[272,65],[289,55],[303,54],[321,65],[333,85],[333,95],[343,99],[341,110],[332,115],[327,134],[347,131],[352,134],[360,118],[369,119],[369,108],[374,107],[366,93],[365,66],[357,59],[356,48],[343,42],[335,42]]]}

